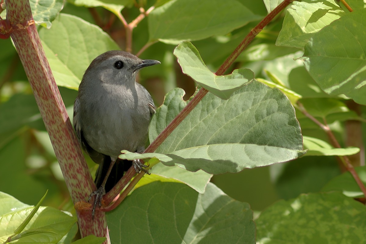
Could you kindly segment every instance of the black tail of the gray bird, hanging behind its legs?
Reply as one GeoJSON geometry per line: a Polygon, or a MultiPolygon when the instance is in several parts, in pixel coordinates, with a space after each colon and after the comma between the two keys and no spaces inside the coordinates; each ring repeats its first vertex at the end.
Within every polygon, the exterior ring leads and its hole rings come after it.
{"type": "MultiPolygon", "coordinates": [[[[103,163],[99,164],[96,172],[95,184],[97,189],[101,186],[105,175],[107,174],[108,167],[111,164],[111,157],[105,156],[103,163]]],[[[111,174],[109,174],[108,180],[105,183],[105,192],[111,191],[113,186],[122,178],[125,171],[127,171],[132,166],[132,162],[128,160],[117,160],[113,165],[111,174]]]]}

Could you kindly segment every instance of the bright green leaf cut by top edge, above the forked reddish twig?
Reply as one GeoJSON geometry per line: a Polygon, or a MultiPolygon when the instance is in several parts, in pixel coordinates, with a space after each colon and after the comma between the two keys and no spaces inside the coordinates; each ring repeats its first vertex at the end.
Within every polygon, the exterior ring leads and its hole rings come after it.
{"type": "Polygon", "coordinates": [[[126,5],[134,3],[133,0],[67,0],[76,6],[87,8],[103,7],[115,15],[119,15],[126,5]]]}

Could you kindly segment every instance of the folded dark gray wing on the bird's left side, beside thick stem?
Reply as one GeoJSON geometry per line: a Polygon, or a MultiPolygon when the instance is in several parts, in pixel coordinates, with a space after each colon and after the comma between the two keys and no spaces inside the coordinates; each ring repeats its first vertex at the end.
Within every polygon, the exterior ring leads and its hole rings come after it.
{"type": "Polygon", "coordinates": [[[95,163],[101,164],[105,161],[108,161],[108,160],[110,161],[111,160],[110,156],[107,156],[107,155],[101,154],[100,152],[95,151],[93,148],[90,147],[90,145],[85,140],[85,137],[83,135],[83,130],[81,128],[79,110],[80,110],[80,102],[79,102],[79,99],[76,98],[75,103],[74,103],[74,116],[73,116],[72,122],[74,124],[74,128],[76,130],[76,136],[78,137],[81,147],[84,149],[84,151],[87,152],[87,154],[89,154],[90,158],[95,163]]]}

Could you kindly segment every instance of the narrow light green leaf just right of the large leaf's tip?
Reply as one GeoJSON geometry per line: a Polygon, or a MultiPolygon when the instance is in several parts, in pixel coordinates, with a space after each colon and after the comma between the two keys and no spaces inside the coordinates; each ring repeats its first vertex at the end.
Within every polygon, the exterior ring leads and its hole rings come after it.
{"type": "Polygon", "coordinates": [[[318,138],[303,136],[305,156],[347,156],[360,151],[358,147],[334,148],[318,138]]]}

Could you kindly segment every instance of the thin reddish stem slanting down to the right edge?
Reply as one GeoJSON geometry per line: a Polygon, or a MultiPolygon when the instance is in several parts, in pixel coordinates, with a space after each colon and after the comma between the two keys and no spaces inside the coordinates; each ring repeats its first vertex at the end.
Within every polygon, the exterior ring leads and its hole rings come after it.
{"type": "MultiPolygon", "coordinates": [[[[306,111],[305,107],[302,105],[302,103],[300,103],[299,101],[297,102],[298,108],[299,110],[309,119],[311,119],[311,121],[313,121],[314,123],[316,123],[322,130],[325,131],[325,133],[327,134],[330,143],[333,145],[333,147],[335,148],[341,148],[340,144],[338,143],[337,139],[335,138],[332,130],[330,130],[329,126],[326,124],[321,123],[320,121],[318,121],[316,118],[314,118],[311,114],[309,114],[309,112],[306,111]]],[[[355,168],[353,167],[353,165],[350,162],[350,159],[347,156],[338,156],[341,160],[341,162],[344,164],[344,166],[346,167],[346,169],[351,173],[352,177],[355,179],[357,185],[359,186],[359,188],[361,189],[361,191],[363,192],[363,195],[365,195],[366,197],[366,187],[365,185],[363,185],[361,179],[359,178],[358,174],[355,171],[355,168]]]]}

